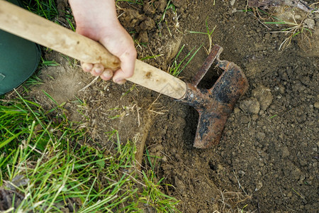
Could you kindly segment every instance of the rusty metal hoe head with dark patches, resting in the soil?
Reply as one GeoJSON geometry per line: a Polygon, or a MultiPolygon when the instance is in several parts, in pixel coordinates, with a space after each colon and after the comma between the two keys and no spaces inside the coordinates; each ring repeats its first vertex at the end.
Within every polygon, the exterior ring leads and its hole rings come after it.
{"type": "Polygon", "coordinates": [[[240,67],[233,62],[220,60],[223,51],[219,45],[206,58],[192,83],[187,84],[185,97],[179,101],[194,107],[199,114],[194,141],[196,148],[209,148],[219,143],[228,116],[232,113],[237,100],[248,89],[248,81],[240,67]],[[201,89],[197,85],[213,62],[223,71],[211,89],[201,89]]]}

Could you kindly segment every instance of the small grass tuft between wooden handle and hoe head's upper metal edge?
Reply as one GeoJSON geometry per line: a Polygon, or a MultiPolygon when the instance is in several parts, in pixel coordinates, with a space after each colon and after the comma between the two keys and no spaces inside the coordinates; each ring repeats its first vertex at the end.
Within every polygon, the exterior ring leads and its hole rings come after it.
{"type": "Polygon", "coordinates": [[[196,55],[196,53],[198,52],[199,49],[201,49],[201,46],[195,50],[195,52],[193,53],[195,47],[193,49],[191,49],[191,51],[189,51],[189,53],[187,53],[187,55],[180,60],[180,62],[177,62],[179,60],[179,55],[181,54],[181,51],[184,49],[185,45],[183,45],[181,47],[181,49],[179,50],[179,53],[177,53],[173,64],[169,67],[169,74],[173,75],[175,77],[177,77],[184,69],[187,65],[189,65],[189,62],[191,62],[191,60],[194,58],[194,56],[196,55]],[[193,53],[193,55],[191,55],[191,53],[193,53]],[[190,58],[189,58],[190,57],[190,58]],[[188,60],[187,60],[188,59],[188,60]]]}

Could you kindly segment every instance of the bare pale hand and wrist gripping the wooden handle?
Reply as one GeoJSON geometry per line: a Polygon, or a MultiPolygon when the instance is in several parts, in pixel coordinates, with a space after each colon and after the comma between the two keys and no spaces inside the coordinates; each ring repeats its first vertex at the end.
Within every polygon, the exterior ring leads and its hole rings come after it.
{"type": "Polygon", "coordinates": [[[101,64],[81,62],[84,72],[99,76],[102,80],[113,80],[123,84],[134,72],[136,50],[127,31],[116,15],[114,0],[69,0],[77,33],[99,41],[106,49],[121,60],[121,67],[112,71],[101,64]]]}

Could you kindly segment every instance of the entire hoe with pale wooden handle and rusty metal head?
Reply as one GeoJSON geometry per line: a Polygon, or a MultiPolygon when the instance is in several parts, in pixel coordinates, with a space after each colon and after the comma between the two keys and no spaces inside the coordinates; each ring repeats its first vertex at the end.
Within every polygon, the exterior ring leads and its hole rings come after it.
{"type": "MultiPolygon", "coordinates": [[[[101,63],[112,70],[120,67],[120,60],[100,43],[2,0],[0,29],[83,62],[101,63]]],[[[183,82],[140,60],[135,62],[134,75],[127,79],[194,107],[199,113],[194,141],[196,148],[208,148],[219,143],[228,116],[248,88],[240,67],[219,59],[222,51],[223,48],[218,45],[213,47],[191,83],[183,82]],[[198,88],[198,83],[213,62],[224,70],[223,74],[211,89],[198,88]]]]}

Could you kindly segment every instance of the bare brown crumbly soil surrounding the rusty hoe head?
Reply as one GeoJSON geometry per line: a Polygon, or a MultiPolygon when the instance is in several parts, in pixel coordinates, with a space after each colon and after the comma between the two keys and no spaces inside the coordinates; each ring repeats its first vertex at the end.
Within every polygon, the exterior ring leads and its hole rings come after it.
{"type": "MultiPolygon", "coordinates": [[[[295,36],[279,50],[287,37],[272,31],[283,26],[266,26],[272,20],[256,9],[243,11],[245,1],[213,2],[173,0],[176,13],[166,10],[164,0],[119,2],[118,14],[135,39],[138,58],[159,55],[145,62],[164,71],[181,45],[181,58],[203,45],[181,72],[184,81],[201,67],[209,45],[207,35],[189,31],[206,32],[206,21],[208,28],[216,26],[213,43],[223,47],[220,57],[239,65],[250,82],[218,146],[193,148],[198,114],[191,107],[130,82],[90,84],[93,77],[57,53],[46,57],[61,66],[44,69],[45,84],[31,94],[43,105],[53,104],[43,90],[65,102],[69,118],[82,122],[93,146],[111,151],[117,130],[123,143],[138,143],[140,154],[147,149],[159,156],[157,177],[172,185],[163,190],[181,200],[181,212],[318,212],[318,13],[308,21],[314,23],[312,37],[295,36]]],[[[209,72],[204,81],[211,87],[221,71],[209,72]]],[[[147,168],[139,160],[138,167],[147,168]]]]}

